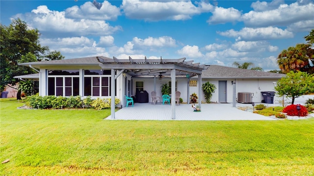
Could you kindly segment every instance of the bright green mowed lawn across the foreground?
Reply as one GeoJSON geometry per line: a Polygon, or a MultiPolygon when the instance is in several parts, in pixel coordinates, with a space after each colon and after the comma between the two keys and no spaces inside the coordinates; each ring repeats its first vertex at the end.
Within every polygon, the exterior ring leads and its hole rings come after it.
{"type": "Polygon", "coordinates": [[[20,110],[0,99],[0,175],[311,176],[314,118],[103,120],[110,110],[20,110]]]}

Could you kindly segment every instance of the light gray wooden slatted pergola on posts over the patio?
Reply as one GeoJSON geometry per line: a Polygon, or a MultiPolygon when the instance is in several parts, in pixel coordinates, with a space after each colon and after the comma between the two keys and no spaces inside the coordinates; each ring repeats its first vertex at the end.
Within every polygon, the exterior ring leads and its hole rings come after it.
{"type": "MultiPolygon", "coordinates": [[[[176,118],[176,97],[175,97],[175,83],[176,76],[187,78],[187,96],[189,96],[189,79],[198,75],[198,94],[201,95],[202,91],[202,70],[207,69],[209,66],[200,65],[200,63],[193,63],[193,61],[185,61],[182,59],[113,59],[106,57],[96,57],[100,62],[99,66],[103,69],[111,69],[111,118],[115,118],[115,79],[121,74],[126,73],[133,77],[149,76],[154,77],[154,88],[156,91],[156,76],[166,75],[171,77],[171,109],[172,119],[176,118]],[[115,74],[117,70],[117,74],[115,74]]],[[[187,97],[187,100],[189,97],[187,97]]],[[[199,101],[201,107],[201,101],[199,101]]]]}

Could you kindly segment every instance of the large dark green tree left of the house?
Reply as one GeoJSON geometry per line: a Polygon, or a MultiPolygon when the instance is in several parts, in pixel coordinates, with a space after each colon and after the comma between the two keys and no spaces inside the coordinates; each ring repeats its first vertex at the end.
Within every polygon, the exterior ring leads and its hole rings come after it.
{"type": "Polygon", "coordinates": [[[18,80],[14,76],[34,73],[31,68],[18,63],[64,59],[60,52],[42,47],[39,31],[29,29],[20,19],[13,20],[9,26],[0,24],[0,50],[0,90],[8,84],[15,85],[18,80]]]}

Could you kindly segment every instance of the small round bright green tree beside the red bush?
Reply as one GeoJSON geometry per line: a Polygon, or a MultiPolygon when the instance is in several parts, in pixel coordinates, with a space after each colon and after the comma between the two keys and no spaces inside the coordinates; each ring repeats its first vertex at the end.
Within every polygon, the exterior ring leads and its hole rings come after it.
{"type": "Polygon", "coordinates": [[[295,98],[314,93],[314,77],[306,72],[290,71],[286,77],[277,81],[275,90],[280,96],[286,95],[292,98],[291,105],[293,105],[295,98]]]}

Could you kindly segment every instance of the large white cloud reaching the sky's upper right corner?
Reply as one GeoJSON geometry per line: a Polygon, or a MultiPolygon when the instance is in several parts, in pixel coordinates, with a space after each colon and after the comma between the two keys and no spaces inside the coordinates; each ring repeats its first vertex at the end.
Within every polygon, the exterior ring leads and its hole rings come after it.
{"type": "Polygon", "coordinates": [[[308,4],[301,4],[297,1],[290,5],[281,4],[277,9],[273,10],[250,11],[242,15],[241,20],[248,27],[286,26],[294,22],[313,20],[313,9],[314,3],[312,1],[309,1],[308,4]]]}

